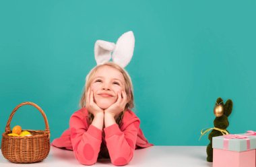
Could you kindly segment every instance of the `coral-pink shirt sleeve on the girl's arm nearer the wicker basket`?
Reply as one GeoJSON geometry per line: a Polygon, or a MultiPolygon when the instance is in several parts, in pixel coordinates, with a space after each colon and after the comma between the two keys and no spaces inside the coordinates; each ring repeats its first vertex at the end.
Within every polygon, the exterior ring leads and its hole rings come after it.
{"type": "Polygon", "coordinates": [[[69,121],[71,130],[71,145],[75,158],[84,165],[95,164],[100,152],[102,130],[90,125],[86,129],[84,121],[79,116],[71,116],[69,121]]]}

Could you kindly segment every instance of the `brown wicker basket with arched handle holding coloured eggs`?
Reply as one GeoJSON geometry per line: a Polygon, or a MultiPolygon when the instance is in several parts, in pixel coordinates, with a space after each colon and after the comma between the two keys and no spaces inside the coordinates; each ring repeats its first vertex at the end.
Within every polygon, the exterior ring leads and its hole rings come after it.
{"type": "Polygon", "coordinates": [[[32,102],[23,102],[13,109],[9,116],[9,120],[7,121],[5,133],[3,133],[1,151],[7,160],[14,163],[26,164],[40,162],[48,156],[50,152],[49,124],[46,119],[46,115],[39,106],[32,102]],[[24,131],[29,131],[32,135],[24,137],[8,136],[7,134],[11,133],[10,123],[13,114],[18,110],[18,108],[24,105],[34,106],[41,112],[44,117],[45,131],[24,129],[24,131]]]}

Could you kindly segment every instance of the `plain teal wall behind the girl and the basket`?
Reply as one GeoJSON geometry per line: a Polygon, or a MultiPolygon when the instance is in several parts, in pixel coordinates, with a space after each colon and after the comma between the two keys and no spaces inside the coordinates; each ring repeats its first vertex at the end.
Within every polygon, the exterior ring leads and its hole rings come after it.
{"type": "MultiPolygon", "coordinates": [[[[126,67],[141,129],[155,145],[206,145],[216,98],[231,98],[228,130],[256,131],[256,1],[0,1],[0,131],[21,102],[46,113],[51,141],[78,110],[94,42],[133,30],[126,67]]],[[[44,129],[23,106],[11,122],[44,129]]],[[[1,138],[1,137],[0,137],[1,138]]]]}

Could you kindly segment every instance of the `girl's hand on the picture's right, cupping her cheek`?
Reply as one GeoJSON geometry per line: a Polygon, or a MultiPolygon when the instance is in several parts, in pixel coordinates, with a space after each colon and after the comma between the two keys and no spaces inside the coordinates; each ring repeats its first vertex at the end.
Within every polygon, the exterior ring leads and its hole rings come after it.
{"type": "Polygon", "coordinates": [[[117,116],[120,112],[125,110],[125,105],[127,104],[127,95],[125,91],[121,90],[117,94],[117,102],[106,108],[104,114],[111,115],[113,117],[117,116]],[[123,97],[122,97],[123,96],[123,97]]]}

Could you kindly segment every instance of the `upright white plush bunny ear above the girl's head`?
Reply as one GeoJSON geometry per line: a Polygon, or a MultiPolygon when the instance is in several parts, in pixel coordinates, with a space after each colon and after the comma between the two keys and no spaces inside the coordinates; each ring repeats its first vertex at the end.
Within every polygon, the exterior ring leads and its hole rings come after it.
{"type": "Polygon", "coordinates": [[[115,51],[113,51],[113,62],[117,63],[121,67],[125,67],[131,61],[133,57],[135,38],[132,31],[125,32],[117,40],[115,51]]]}

